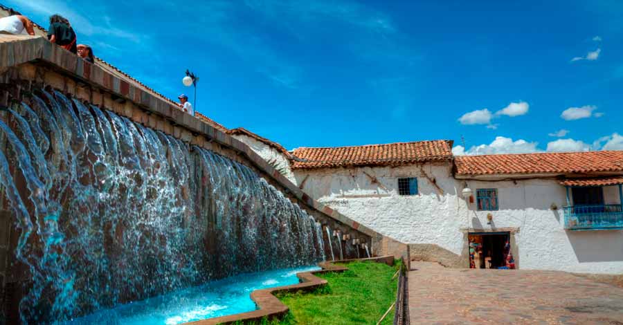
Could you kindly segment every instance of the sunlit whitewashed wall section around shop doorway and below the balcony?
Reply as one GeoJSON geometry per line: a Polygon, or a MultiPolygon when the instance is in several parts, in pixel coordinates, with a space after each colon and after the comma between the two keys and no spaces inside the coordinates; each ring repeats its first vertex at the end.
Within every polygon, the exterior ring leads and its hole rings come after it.
{"type": "MultiPolygon", "coordinates": [[[[518,227],[517,245],[521,268],[570,272],[622,273],[623,231],[564,230],[561,207],[566,205],[565,189],[556,180],[505,182],[468,181],[471,189],[498,188],[500,210],[491,212],[497,228],[518,227]],[[554,203],[558,210],[551,210],[554,203]]],[[[605,187],[606,203],[619,203],[617,187],[605,187]]],[[[487,225],[487,213],[470,210],[471,223],[487,225]]]]}

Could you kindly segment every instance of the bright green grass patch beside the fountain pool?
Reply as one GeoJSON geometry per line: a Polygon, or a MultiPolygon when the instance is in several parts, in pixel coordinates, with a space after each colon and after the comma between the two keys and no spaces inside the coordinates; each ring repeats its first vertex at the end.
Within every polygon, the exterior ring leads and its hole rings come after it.
{"type": "MultiPolygon", "coordinates": [[[[264,324],[377,324],[396,299],[399,265],[354,262],[347,271],[318,275],[329,284],[312,293],[283,293],[278,298],[290,308],[280,321],[264,324]]],[[[392,324],[392,310],[381,324],[392,324]]]]}

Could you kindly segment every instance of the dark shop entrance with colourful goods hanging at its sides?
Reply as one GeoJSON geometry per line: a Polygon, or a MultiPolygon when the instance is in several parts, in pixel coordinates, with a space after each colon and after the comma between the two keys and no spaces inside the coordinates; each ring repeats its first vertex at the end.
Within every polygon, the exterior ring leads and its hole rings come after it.
{"type": "Polygon", "coordinates": [[[509,232],[470,232],[469,268],[513,269],[509,232]]]}

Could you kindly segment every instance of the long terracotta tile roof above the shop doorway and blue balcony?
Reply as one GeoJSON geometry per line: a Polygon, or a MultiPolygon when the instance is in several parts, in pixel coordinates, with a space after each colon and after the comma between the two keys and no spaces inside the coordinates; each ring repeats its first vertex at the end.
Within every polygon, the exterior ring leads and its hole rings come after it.
{"type": "Polygon", "coordinates": [[[575,174],[623,171],[623,151],[455,157],[457,175],[575,174]]]}

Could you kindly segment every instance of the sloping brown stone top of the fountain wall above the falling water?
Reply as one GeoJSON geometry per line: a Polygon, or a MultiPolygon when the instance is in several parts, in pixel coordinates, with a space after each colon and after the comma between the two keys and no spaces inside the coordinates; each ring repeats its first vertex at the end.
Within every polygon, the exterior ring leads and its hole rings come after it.
{"type": "MultiPolygon", "coordinates": [[[[114,111],[145,127],[162,131],[191,145],[197,145],[242,163],[279,189],[325,227],[347,235],[351,243],[352,240],[359,240],[359,245],[343,242],[345,258],[365,257],[363,245],[367,245],[372,254],[383,254],[374,250],[380,247],[374,245],[374,241],[383,240],[383,236],[313,200],[255,151],[243,142],[228,136],[219,127],[183,113],[171,102],[161,100],[118,75],[78,59],[42,37],[19,36],[0,39],[0,105],[9,106],[15,100],[28,102],[33,89],[55,89],[69,97],[114,111]]],[[[6,147],[4,143],[0,145],[6,147]]],[[[15,245],[15,243],[8,244],[13,227],[6,226],[5,223],[10,223],[14,218],[10,212],[6,212],[6,207],[0,207],[0,210],[2,285],[0,288],[4,290],[8,288],[6,270],[11,259],[8,248],[15,245]]],[[[327,242],[326,232],[323,232],[323,235],[327,242]]],[[[333,241],[335,242],[335,238],[333,241]]],[[[20,280],[14,275],[11,281],[15,283],[20,280]]],[[[16,297],[21,296],[21,293],[13,294],[16,297]]],[[[12,304],[15,302],[12,301],[12,304]]],[[[13,318],[15,315],[10,317],[13,318]]]]}

